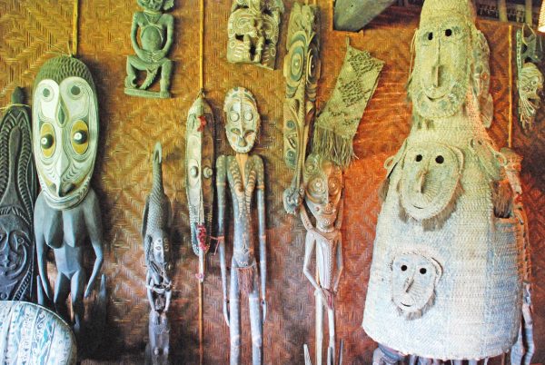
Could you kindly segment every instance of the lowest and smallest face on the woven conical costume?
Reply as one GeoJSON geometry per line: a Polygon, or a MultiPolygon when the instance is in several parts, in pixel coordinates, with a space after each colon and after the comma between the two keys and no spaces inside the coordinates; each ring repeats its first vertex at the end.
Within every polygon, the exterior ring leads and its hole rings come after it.
{"type": "Polygon", "coordinates": [[[435,299],[441,265],[419,253],[403,253],[391,262],[391,300],[407,319],[420,318],[435,299]]]}

